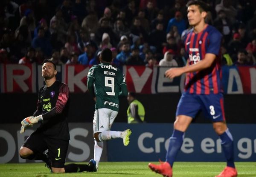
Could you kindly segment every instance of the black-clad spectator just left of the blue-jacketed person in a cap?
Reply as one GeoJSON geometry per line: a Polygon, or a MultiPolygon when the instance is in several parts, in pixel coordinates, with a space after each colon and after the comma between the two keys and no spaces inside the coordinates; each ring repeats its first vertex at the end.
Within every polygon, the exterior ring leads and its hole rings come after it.
{"type": "Polygon", "coordinates": [[[156,47],[156,53],[162,53],[163,45],[166,42],[166,32],[163,30],[163,23],[158,22],[156,29],[149,34],[149,45],[156,47]]]}

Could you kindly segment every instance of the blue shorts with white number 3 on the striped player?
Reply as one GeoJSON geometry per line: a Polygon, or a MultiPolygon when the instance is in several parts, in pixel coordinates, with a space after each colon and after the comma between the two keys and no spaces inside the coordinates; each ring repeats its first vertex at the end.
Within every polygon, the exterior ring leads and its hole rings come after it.
{"type": "Polygon", "coordinates": [[[189,94],[183,92],[177,106],[176,116],[186,115],[195,118],[200,110],[212,122],[226,120],[223,94],[189,94]]]}

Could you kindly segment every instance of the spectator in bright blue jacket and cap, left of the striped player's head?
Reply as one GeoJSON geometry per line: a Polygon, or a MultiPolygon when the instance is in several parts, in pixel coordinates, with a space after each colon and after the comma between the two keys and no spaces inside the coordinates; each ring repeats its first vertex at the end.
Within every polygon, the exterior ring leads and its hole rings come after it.
{"type": "Polygon", "coordinates": [[[175,17],[169,20],[166,28],[166,33],[170,32],[172,26],[177,26],[180,36],[182,32],[186,29],[186,22],[183,19],[182,13],[180,11],[176,11],[175,17]]]}

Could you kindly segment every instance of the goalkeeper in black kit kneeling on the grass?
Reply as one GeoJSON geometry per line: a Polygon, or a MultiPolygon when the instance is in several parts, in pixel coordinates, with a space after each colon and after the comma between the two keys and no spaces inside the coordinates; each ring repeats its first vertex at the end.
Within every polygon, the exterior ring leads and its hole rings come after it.
{"type": "Polygon", "coordinates": [[[26,126],[41,123],[20,148],[20,157],[29,160],[43,160],[53,173],[95,171],[96,162],[90,160],[88,165],[64,165],[69,145],[68,128],[69,88],[56,80],[56,65],[44,60],[42,77],[45,85],[39,90],[38,108],[35,113],[21,121],[20,133],[26,126]],[[43,152],[48,149],[48,153],[43,152]]]}

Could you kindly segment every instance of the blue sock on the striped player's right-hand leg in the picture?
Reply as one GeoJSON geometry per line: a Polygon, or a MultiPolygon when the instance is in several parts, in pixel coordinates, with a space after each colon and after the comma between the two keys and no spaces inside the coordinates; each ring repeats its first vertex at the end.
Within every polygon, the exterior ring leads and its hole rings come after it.
{"type": "Polygon", "coordinates": [[[221,146],[227,159],[227,166],[235,168],[233,137],[228,128],[219,137],[221,138],[221,146]]]}

